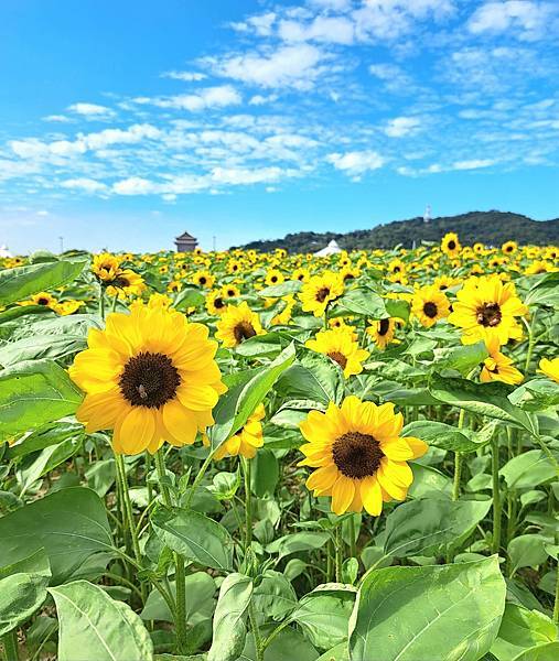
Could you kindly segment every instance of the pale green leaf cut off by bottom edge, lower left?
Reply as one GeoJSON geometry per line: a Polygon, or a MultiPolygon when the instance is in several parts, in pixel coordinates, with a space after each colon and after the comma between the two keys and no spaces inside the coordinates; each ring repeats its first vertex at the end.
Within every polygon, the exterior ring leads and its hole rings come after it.
{"type": "Polygon", "coordinates": [[[87,581],[50,589],[58,621],[58,661],[152,659],[153,646],[141,619],[87,581]]]}

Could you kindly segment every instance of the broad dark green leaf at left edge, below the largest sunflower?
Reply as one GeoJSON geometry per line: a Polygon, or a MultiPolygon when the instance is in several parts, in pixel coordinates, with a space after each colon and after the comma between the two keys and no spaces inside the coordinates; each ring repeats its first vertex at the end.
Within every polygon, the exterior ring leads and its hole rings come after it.
{"type": "Polygon", "coordinates": [[[94,553],[110,551],[105,505],[84,487],[62,489],[0,519],[0,557],[13,563],[44,548],[52,582],[63,583],[94,553]]]}

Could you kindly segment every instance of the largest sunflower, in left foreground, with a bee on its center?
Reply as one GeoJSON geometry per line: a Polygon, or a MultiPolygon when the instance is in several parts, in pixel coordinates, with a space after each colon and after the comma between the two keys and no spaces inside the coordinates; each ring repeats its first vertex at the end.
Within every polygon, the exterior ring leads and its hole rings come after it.
{"type": "Polygon", "coordinates": [[[69,368],[86,393],[76,418],[88,433],[114,430],[115,452],[192,444],[214,423],[212,409],[226,387],[206,326],[138,305],[109,314],[105,330],[89,330],[87,345],[69,368]]]}

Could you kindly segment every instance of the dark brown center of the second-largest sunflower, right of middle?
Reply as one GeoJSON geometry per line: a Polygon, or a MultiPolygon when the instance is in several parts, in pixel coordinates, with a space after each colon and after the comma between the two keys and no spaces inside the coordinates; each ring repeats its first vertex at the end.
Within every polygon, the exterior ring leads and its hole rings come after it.
{"type": "Polygon", "coordinates": [[[378,441],[361,432],[347,432],[336,438],[332,446],[332,457],[337,469],[355,479],[375,475],[384,456],[378,441]]]}

